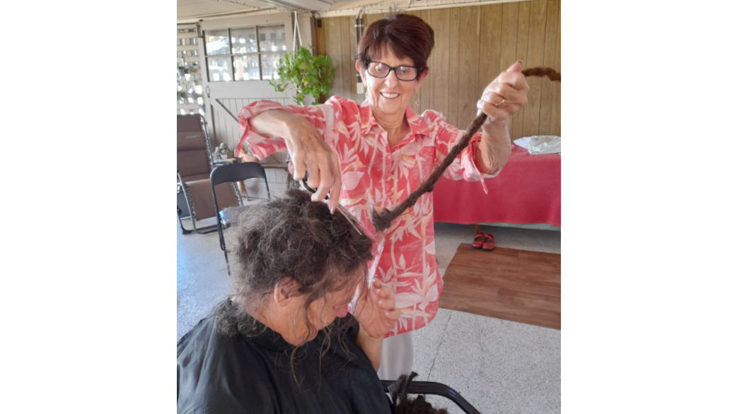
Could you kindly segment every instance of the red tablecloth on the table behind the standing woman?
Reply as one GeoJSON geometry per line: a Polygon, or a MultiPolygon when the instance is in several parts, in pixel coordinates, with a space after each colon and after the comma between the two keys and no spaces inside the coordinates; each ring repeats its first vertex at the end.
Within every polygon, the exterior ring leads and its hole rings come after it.
{"type": "Polygon", "coordinates": [[[496,178],[481,183],[441,178],[433,200],[436,222],[477,224],[545,223],[560,227],[561,156],[530,155],[512,144],[509,162],[496,178]]]}

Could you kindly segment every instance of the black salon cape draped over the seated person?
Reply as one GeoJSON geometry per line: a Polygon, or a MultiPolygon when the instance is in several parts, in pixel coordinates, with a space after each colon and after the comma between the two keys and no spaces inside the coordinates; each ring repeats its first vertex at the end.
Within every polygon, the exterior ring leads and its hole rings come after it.
{"type": "MultiPolygon", "coordinates": [[[[259,337],[226,337],[208,317],[177,343],[177,414],[391,414],[371,361],[355,343],[357,323],[320,358],[321,340],[293,347],[270,329],[259,337]],[[322,365],[322,373],[320,371],[322,365]]],[[[321,332],[320,335],[323,335],[321,332]]],[[[335,337],[335,334],[333,334],[335,337]]]]}

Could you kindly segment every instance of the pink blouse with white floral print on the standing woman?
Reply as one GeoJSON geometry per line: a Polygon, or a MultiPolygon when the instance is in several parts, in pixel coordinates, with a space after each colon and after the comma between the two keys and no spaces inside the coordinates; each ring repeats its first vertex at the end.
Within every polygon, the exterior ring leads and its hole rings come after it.
{"type": "MultiPolygon", "coordinates": [[[[317,127],[338,155],[343,179],[340,203],[367,231],[373,231],[371,211],[374,208],[391,209],[402,203],[464,135],[464,131],[447,124],[441,113],[427,110],[418,116],[407,108],[411,131],[390,148],[387,133],[374,119],[367,103],[359,106],[339,97],[332,97],[324,105],[305,107],[259,101],[240,110],[242,138],[237,152],[243,144],[261,159],[273,152],[287,152],[282,139],[261,136],[249,127],[248,119],[274,109],[287,110],[317,127]]],[[[481,180],[486,191],[483,178],[493,178],[498,172],[494,175],[478,172],[474,154],[480,140],[480,133],[473,137],[472,144],[447,169],[444,177],[481,180]]],[[[397,308],[402,309],[397,326],[387,334],[390,337],[422,328],[438,312],[443,281],[435,258],[433,193],[420,197],[415,206],[394,220],[384,239],[383,252],[374,259],[378,261],[375,276],[394,286],[397,308]]]]}

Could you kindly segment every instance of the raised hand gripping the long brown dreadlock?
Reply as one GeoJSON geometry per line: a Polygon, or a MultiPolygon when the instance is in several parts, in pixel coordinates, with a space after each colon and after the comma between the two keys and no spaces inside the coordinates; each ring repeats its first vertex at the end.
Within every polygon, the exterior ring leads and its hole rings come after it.
{"type": "Polygon", "coordinates": [[[529,90],[530,85],[522,74],[522,62],[514,63],[483,91],[481,100],[476,105],[478,113],[483,112],[489,116],[486,124],[503,122],[527,103],[529,90]]]}

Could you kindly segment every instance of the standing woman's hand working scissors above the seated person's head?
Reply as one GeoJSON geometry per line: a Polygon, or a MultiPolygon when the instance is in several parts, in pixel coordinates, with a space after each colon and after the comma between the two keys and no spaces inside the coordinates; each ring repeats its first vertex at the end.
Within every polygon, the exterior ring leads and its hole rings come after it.
{"type": "Polygon", "coordinates": [[[340,180],[340,163],[326,144],[315,125],[294,116],[287,124],[284,142],[292,156],[294,165],[294,180],[301,181],[305,172],[310,172],[307,185],[317,189],[312,194],[312,201],[321,201],[332,194],[328,202],[330,211],[335,211],[340,203],[340,191],[343,186],[340,180]]]}

